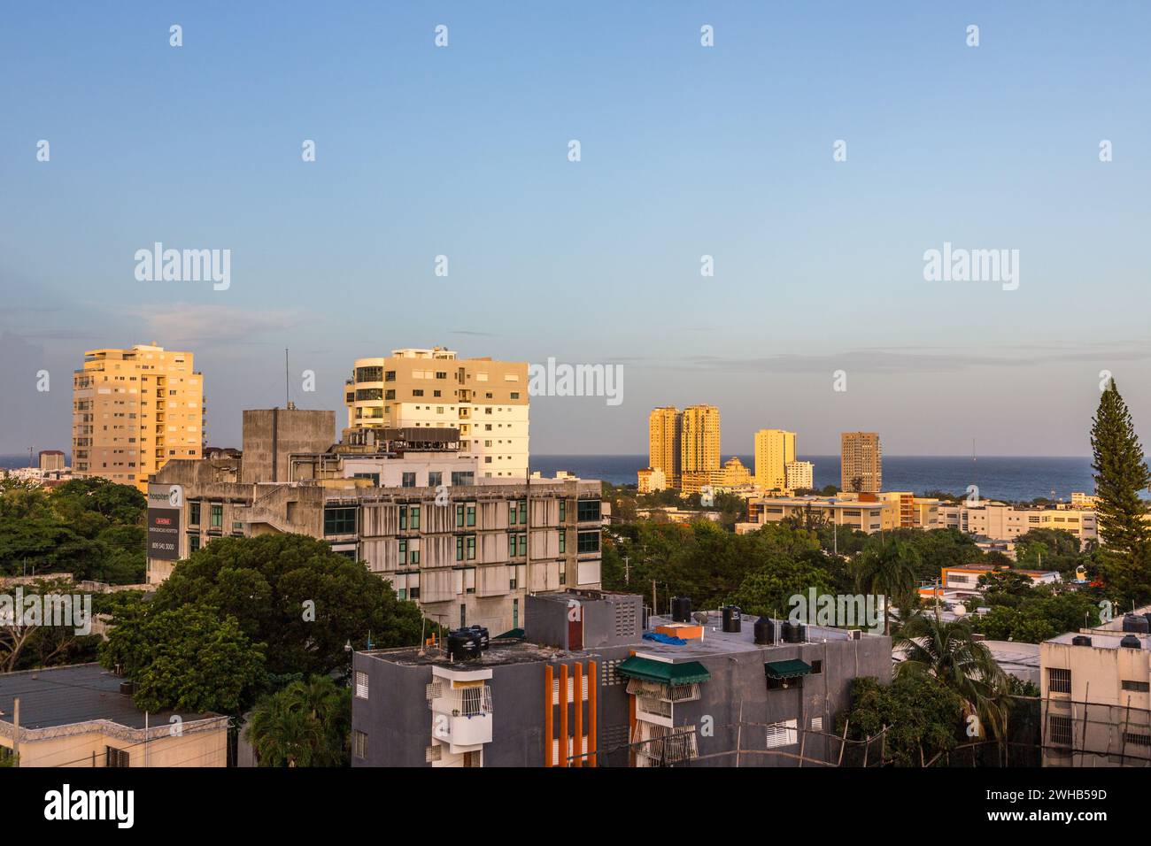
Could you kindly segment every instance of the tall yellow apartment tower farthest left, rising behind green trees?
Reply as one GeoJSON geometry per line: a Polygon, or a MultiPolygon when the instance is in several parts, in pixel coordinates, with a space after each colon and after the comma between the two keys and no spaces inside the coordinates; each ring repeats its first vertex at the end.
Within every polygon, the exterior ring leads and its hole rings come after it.
{"type": "Polygon", "coordinates": [[[150,473],[204,447],[204,374],[191,352],[90,350],[73,376],[73,471],[147,490],[150,473]]]}

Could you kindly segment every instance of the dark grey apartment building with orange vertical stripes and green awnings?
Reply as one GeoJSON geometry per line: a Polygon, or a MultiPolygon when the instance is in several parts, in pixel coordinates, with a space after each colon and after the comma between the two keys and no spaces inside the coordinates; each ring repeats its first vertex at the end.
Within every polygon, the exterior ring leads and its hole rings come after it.
{"type": "Polygon", "coordinates": [[[523,637],[472,660],[356,653],[352,765],[834,764],[852,680],[891,678],[883,635],[645,617],[640,596],[567,589],[529,596],[523,637]]]}

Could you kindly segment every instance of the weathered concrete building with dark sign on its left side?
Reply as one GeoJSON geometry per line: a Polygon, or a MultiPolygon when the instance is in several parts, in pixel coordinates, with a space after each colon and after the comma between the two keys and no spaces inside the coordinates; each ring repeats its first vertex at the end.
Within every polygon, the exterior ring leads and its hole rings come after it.
{"type": "Polygon", "coordinates": [[[453,428],[353,428],[320,448],[331,416],[279,410],[277,429],[313,447],[296,452],[267,440],[269,412],[245,413],[244,452],[157,473],[148,582],[216,538],[295,532],[364,562],[451,626],[503,632],[521,625],[529,592],[600,586],[600,482],[481,477],[453,428]]]}

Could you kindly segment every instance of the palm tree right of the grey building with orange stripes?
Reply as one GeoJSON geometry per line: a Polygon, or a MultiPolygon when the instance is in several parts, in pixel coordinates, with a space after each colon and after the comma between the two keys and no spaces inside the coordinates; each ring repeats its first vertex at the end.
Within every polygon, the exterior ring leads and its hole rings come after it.
{"type": "Polygon", "coordinates": [[[897,676],[931,676],[959,694],[966,712],[976,715],[998,740],[1006,737],[1011,710],[1007,674],[991,650],[973,638],[967,620],[915,613],[900,628],[893,646],[907,656],[895,668],[897,676]]]}

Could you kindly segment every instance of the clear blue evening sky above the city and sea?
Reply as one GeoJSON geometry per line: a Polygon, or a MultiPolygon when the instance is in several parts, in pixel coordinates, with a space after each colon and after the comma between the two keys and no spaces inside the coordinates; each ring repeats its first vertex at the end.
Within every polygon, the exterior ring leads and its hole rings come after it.
{"type": "Polygon", "coordinates": [[[67,449],[84,350],[153,340],[216,445],[284,346],[341,410],[355,358],[433,344],[622,365],[620,405],[533,399],[543,454],[708,402],[725,455],[1085,455],[1105,368],[1148,441],[1151,7],[1005,6],[9,5],[0,452],[67,449]],[[138,282],[158,241],[230,249],[230,288],[138,282]],[[925,282],[944,242],[1017,249],[1019,289],[925,282]]]}

